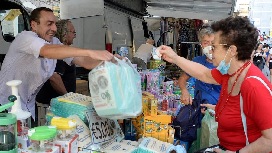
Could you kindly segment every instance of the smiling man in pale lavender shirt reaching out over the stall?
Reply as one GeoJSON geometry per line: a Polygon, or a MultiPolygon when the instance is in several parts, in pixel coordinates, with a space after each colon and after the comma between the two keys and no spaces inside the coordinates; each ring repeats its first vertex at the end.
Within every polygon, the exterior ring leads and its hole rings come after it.
{"type": "MultiPolygon", "coordinates": [[[[43,84],[52,76],[57,59],[68,65],[76,64],[93,69],[102,60],[112,60],[107,50],[91,50],[63,45],[54,35],[57,18],[49,8],[36,8],[30,15],[31,31],[22,31],[4,59],[0,71],[0,103],[8,103],[11,87],[6,82],[21,80],[18,94],[23,110],[31,112],[35,119],[35,96],[43,84]]],[[[10,111],[10,109],[8,109],[10,111]]]]}

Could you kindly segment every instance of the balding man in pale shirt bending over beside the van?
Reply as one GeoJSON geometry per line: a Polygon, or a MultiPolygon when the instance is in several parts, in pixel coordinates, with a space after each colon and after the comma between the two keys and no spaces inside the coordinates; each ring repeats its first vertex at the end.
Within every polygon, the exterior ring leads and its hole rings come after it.
{"type": "Polygon", "coordinates": [[[137,64],[137,67],[142,67],[142,70],[147,69],[147,62],[152,57],[151,49],[155,47],[153,44],[153,39],[147,39],[145,44],[141,44],[132,58],[132,63],[137,64]]]}

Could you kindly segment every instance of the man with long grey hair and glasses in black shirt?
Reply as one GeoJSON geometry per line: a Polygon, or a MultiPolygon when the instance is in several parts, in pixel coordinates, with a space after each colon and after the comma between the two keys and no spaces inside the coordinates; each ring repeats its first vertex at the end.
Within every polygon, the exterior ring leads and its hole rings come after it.
{"type": "MultiPolygon", "coordinates": [[[[70,46],[73,44],[76,30],[71,21],[59,20],[55,37],[64,45],[70,46]]],[[[46,123],[46,108],[50,106],[51,99],[69,92],[76,92],[76,65],[72,64],[70,66],[63,60],[57,60],[53,75],[44,83],[36,95],[39,126],[46,123]]]]}

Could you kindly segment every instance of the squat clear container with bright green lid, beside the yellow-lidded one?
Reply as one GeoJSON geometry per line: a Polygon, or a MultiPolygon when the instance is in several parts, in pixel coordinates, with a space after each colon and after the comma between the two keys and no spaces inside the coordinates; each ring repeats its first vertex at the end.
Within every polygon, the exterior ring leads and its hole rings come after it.
{"type": "Polygon", "coordinates": [[[28,130],[28,140],[33,151],[47,151],[56,142],[56,126],[38,126],[28,130]]]}

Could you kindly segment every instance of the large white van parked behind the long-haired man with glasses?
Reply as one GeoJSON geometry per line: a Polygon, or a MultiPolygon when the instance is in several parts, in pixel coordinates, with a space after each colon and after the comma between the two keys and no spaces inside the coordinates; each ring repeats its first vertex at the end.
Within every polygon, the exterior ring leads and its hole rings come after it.
{"type": "MultiPolygon", "coordinates": [[[[138,4],[138,8],[144,8],[144,1],[138,4]]],[[[150,37],[144,15],[112,0],[60,0],[60,18],[70,20],[77,32],[72,46],[108,50],[113,54],[125,47],[130,60],[133,52],[150,37]]],[[[78,77],[87,77],[90,70],[76,67],[76,71],[78,77]]]]}

